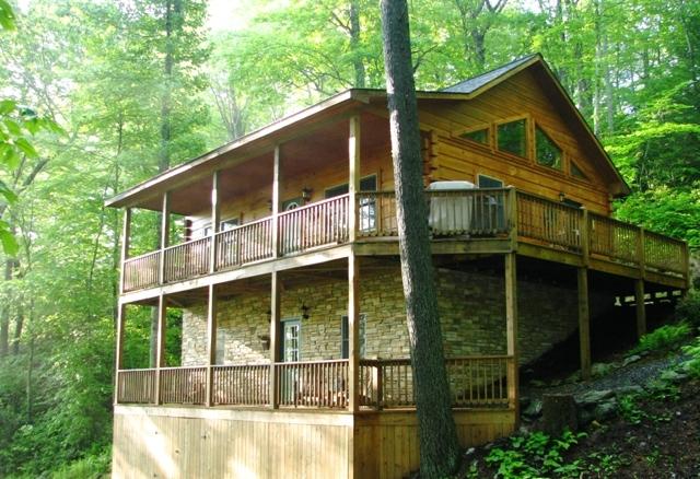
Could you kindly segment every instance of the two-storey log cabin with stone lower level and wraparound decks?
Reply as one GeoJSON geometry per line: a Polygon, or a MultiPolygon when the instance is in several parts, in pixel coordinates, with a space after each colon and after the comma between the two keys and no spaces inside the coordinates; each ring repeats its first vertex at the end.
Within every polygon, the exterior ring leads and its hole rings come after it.
{"type": "MultiPolygon", "coordinates": [[[[591,374],[591,317],[616,296],[643,334],[645,302],[688,288],[688,248],[610,218],[629,188],[539,55],[417,96],[454,419],[482,444],[517,428],[518,369],[553,344],[578,334],[591,374]]],[[[125,209],[114,477],[418,468],[393,184],[386,92],[354,89],[107,202],[125,209]],[[142,210],[160,247],[133,256],[142,210]],[[137,305],[158,312],[149,369],[124,363],[137,305]]]]}

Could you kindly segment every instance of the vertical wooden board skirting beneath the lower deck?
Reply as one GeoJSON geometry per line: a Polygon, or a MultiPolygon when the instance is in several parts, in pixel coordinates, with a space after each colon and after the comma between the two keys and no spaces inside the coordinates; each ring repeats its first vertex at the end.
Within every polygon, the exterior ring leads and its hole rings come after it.
{"type": "MultiPolygon", "coordinates": [[[[512,410],[455,411],[463,446],[513,432],[512,410]]],[[[117,406],[113,477],[398,479],[419,465],[415,411],[317,413],[117,406]]]]}

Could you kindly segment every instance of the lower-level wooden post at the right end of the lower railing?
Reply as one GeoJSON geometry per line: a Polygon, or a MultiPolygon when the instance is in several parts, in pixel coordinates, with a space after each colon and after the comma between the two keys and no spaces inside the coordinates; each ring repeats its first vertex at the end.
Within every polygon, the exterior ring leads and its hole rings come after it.
{"type": "Polygon", "coordinates": [[[505,259],[505,340],[508,355],[512,358],[508,369],[509,407],[515,410],[516,428],[520,421],[518,351],[517,351],[517,255],[508,253],[505,259]]]}

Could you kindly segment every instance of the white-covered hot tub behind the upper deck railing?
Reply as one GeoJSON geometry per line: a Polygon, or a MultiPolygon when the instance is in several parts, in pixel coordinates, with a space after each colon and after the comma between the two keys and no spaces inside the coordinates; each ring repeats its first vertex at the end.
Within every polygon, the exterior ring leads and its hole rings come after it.
{"type": "MultiPolygon", "coordinates": [[[[428,186],[429,191],[467,190],[476,186],[469,182],[434,182],[428,186]]],[[[469,230],[474,198],[446,194],[430,198],[430,214],[428,224],[435,234],[460,233],[469,230]]]]}

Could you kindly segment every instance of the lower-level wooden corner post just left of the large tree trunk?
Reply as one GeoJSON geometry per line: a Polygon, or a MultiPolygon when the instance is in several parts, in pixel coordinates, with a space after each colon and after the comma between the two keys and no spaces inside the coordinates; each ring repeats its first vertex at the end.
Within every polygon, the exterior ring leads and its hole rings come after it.
{"type": "Polygon", "coordinates": [[[348,255],[348,410],[357,412],[360,408],[360,289],[359,264],[354,247],[348,255]]]}

